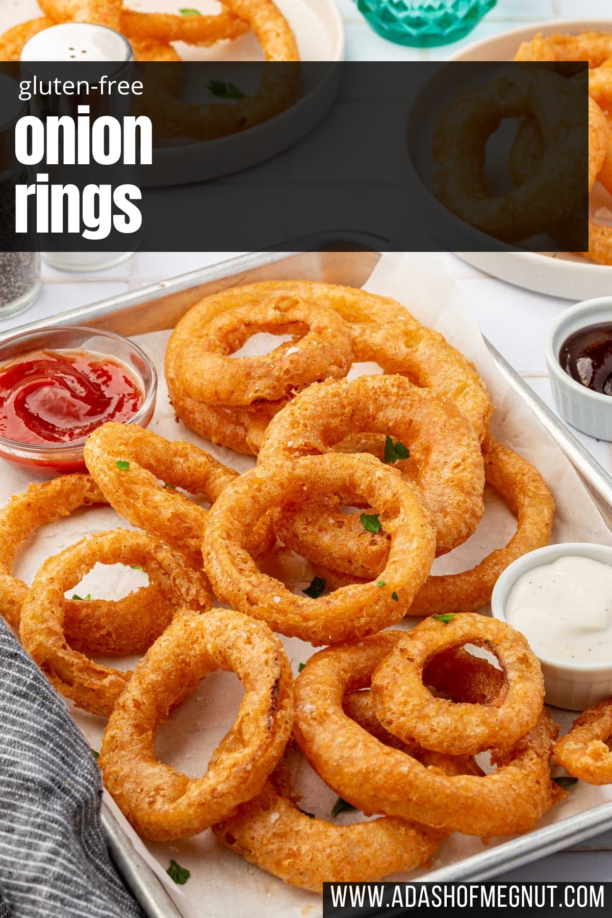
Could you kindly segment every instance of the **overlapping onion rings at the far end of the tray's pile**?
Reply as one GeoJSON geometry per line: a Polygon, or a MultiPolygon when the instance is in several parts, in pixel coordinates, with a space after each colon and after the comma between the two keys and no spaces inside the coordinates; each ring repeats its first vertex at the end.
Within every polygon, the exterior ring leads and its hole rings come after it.
{"type": "MultiPolygon", "coordinates": [[[[291,326],[283,328],[279,314],[290,306],[294,316],[301,310],[313,320],[316,314],[327,313],[328,328],[337,330],[336,353],[327,351],[327,377],[341,378],[351,367],[344,351],[348,332],[353,362],[380,364],[385,373],[404,375],[417,386],[451,399],[470,421],[479,441],[484,441],[493,410],[484,383],[473,365],[439,332],[422,325],[388,297],[354,287],[308,281],[270,281],[232,287],[205,297],[179,320],[168,342],[165,374],[176,415],[187,427],[239,453],[259,452],[263,433],[284,407],[287,392],[295,394],[305,384],[320,378],[312,373],[305,376],[296,357],[302,353],[302,342],[308,347],[315,346],[313,341],[317,346],[322,342],[312,334],[307,321],[294,319],[291,326]],[[251,319],[245,319],[245,308],[249,308],[246,315],[251,319]],[[223,317],[232,310],[237,312],[228,325],[228,319],[223,317]],[[240,322],[236,320],[238,317],[240,322]],[[220,330],[231,331],[231,337],[228,334],[221,337],[220,330]],[[265,360],[262,357],[230,360],[233,350],[238,350],[250,335],[266,330],[276,333],[284,330],[291,335],[291,341],[284,341],[265,360]],[[219,391],[211,400],[210,391],[201,386],[198,364],[203,360],[209,362],[211,355],[220,372],[227,372],[221,368],[228,366],[228,361],[233,366],[236,389],[231,400],[223,400],[219,391]],[[272,378],[282,375],[283,385],[277,383],[275,389],[260,389],[257,394],[246,392],[242,387],[244,376],[259,374],[261,365],[272,378]]],[[[329,348],[329,344],[326,346],[329,348]]]]}

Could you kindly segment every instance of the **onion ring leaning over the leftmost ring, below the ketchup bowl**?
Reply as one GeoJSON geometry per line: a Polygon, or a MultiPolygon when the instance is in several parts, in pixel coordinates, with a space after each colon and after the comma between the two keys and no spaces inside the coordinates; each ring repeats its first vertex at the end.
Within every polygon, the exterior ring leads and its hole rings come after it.
{"type": "Polygon", "coordinates": [[[21,610],[21,643],[65,698],[84,711],[108,716],[131,673],[94,663],[66,644],[63,631],[64,593],[96,561],[137,562],[165,596],[172,598],[177,615],[204,612],[211,608],[213,597],[206,577],[185,565],[183,555],[164,548],[144,532],[97,532],[44,562],[21,610]]]}

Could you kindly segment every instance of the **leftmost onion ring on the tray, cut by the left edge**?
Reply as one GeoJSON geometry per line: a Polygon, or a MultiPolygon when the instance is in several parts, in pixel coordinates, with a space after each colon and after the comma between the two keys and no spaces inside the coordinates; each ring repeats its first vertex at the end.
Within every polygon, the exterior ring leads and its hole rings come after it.
{"type": "MultiPolygon", "coordinates": [[[[62,475],[37,482],[12,497],[0,510],[0,612],[18,628],[28,587],[13,577],[17,552],[39,526],[74,510],[106,504],[88,475],[62,475]]],[[[172,605],[150,584],[124,599],[66,599],[64,632],[74,649],[89,653],[139,653],[161,634],[172,618],[172,605]]]]}

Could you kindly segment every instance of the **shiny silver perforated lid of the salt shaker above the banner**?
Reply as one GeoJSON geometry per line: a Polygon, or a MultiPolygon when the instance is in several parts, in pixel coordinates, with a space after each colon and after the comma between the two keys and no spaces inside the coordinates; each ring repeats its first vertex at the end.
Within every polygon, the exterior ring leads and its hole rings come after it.
{"type": "Polygon", "coordinates": [[[23,46],[21,62],[81,61],[126,63],[134,60],[128,39],[106,26],[65,22],[43,28],[23,46]]]}

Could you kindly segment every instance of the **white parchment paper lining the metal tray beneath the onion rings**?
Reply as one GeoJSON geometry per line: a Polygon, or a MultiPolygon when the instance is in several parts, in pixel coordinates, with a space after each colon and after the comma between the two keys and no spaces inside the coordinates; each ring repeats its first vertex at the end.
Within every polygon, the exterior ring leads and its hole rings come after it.
{"type": "MultiPolygon", "coordinates": [[[[495,436],[526,456],[540,469],[551,486],[557,505],[552,541],[612,544],[611,533],[572,466],[520,397],[496,373],[469,305],[457,286],[444,274],[439,257],[423,253],[384,255],[367,288],[375,293],[395,297],[417,319],[443,332],[477,366],[495,402],[495,436]]],[[[150,429],[171,440],[187,439],[203,445],[222,462],[234,465],[240,472],[246,470],[252,465],[249,457],[239,456],[203,441],[174,419],[163,381],[163,353],[168,336],[169,332],[154,332],[137,338],[140,346],[150,353],[160,375],[157,410],[150,429]]],[[[261,339],[261,336],[256,337],[261,339]]],[[[275,341],[278,342],[277,339],[275,341]]],[[[261,340],[252,339],[249,347],[251,353],[257,353],[257,349],[261,349],[261,340]]],[[[376,372],[377,369],[380,368],[372,364],[360,364],[352,368],[351,375],[376,372]]],[[[11,494],[23,490],[27,485],[27,473],[4,465],[0,500],[5,502],[11,494]]],[[[50,524],[24,545],[17,558],[15,572],[29,582],[39,564],[50,554],[56,554],[61,548],[82,538],[83,534],[117,526],[129,528],[125,520],[107,508],[82,510],[66,520],[50,524]]],[[[434,571],[440,573],[472,567],[493,548],[505,544],[514,528],[513,518],[506,508],[498,498],[487,494],[484,520],[478,531],[460,549],[440,558],[434,571]]],[[[296,590],[304,587],[312,576],[308,566],[299,562],[289,564],[288,569],[289,580],[296,590]]],[[[128,570],[122,565],[96,565],[82,586],[74,584],[69,595],[75,591],[81,596],[90,593],[94,598],[117,598],[144,582],[146,575],[142,572],[128,570]]],[[[406,621],[402,626],[410,627],[410,622],[406,621]]],[[[284,644],[297,674],[298,664],[306,661],[314,650],[309,644],[296,639],[284,639],[284,644]]],[[[117,663],[117,658],[113,659],[113,665],[121,668],[128,668],[134,663],[134,660],[129,659],[121,659],[117,663]]],[[[211,751],[234,720],[241,694],[238,679],[230,674],[215,673],[206,677],[195,694],[180,709],[173,711],[169,722],[162,727],[156,744],[161,760],[190,776],[203,774],[211,751]]],[[[104,719],[76,709],[72,711],[89,744],[99,749],[104,719]]],[[[575,716],[563,711],[553,711],[553,714],[558,716],[565,727],[575,716]]],[[[303,757],[292,754],[291,758],[296,785],[304,793],[302,806],[308,812],[328,817],[336,800],[335,794],[312,773],[303,757]]],[[[569,799],[554,807],[540,825],[561,821],[575,812],[590,809],[611,798],[612,789],[593,788],[579,782],[573,787],[569,799]]],[[[106,800],[113,806],[134,845],[146,856],[166,885],[185,918],[201,918],[203,914],[206,914],[206,918],[242,918],[245,914],[252,918],[317,918],[321,914],[321,899],[318,895],[296,890],[263,873],[218,845],[210,831],[174,844],[145,844],[130,829],[107,794],[106,800]],[[182,887],[174,885],[165,873],[171,857],[191,870],[191,878],[182,887]]],[[[363,818],[360,813],[342,813],[337,822],[346,824],[360,818],[363,818]]],[[[488,847],[496,844],[503,845],[504,840],[494,840],[488,847]]],[[[482,850],[484,848],[479,839],[451,835],[440,846],[434,867],[450,864],[482,850]]],[[[417,874],[411,877],[416,879],[417,874]]]]}

